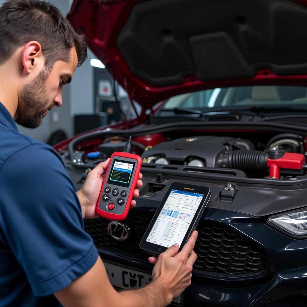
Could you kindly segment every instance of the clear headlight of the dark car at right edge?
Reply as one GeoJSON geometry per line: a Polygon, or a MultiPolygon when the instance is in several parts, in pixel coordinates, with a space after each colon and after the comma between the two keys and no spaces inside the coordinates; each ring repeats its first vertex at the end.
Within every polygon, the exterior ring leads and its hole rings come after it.
{"type": "Polygon", "coordinates": [[[294,238],[307,238],[307,208],[272,215],[267,222],[294,238]]]}

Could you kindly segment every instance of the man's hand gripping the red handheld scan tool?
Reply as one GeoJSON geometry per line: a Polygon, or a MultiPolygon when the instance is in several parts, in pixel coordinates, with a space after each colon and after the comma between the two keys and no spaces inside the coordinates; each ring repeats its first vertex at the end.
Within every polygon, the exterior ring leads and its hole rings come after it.
{"type": "MultiPolygon", "coordinates": [[[[110,159],[107,159],[107,161],[99,163],[94,169],[92,169],[87,174],[87,178],[82,188],[80,188],[80,190],[77,192],[82,208],[83,219],[93,219],[99,216],[96,213],[96,204],[103,182],[103,177],[101,176],[104,170],[107,169],[109,160],[110,159]]],[[[141,181],[142,177],[143,175],[140,173],[136,184],[137,188],[141,188],[143,184],[141,181]]],[[[139,190],[135,189],[133,193],[133,198],[137,198],[138,195],[139,195],[139,190]]],[[[133,208],[135,205],[136,201],[132,200],[130,205],[131,208],[133,208]]]]}

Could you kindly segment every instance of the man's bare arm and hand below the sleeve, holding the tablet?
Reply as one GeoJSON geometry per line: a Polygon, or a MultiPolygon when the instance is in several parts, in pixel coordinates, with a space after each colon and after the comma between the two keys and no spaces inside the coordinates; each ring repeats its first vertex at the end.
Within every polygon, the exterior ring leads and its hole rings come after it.
{"type": "Polygon", "coordinates": [[[162,253],[153,268],[153,281],[141,289],[116,292],[98,257],[87,273],[54,294],[64,307],[164,307],[191,283],[196,239],[194,231],[179,253],[175,245],[162,253]]]}

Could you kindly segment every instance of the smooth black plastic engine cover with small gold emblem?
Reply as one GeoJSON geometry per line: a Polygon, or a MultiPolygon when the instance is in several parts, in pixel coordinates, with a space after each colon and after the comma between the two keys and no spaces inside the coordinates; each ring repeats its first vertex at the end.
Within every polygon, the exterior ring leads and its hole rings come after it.
{"type": "MultiPolygon", "coordinates": [[[[204,166],[222,167],[219,165],[222,163],[219,158],[229,150],[255,150],[255,146],[252,142],[239,138],[194,136],[160,143],[145,151],[142,158],[164,157],[169,164],[180,165],[199,159],[204,162],[204,166]]],[[[153,163],[156,161],[150,160],[153,163]]]]}

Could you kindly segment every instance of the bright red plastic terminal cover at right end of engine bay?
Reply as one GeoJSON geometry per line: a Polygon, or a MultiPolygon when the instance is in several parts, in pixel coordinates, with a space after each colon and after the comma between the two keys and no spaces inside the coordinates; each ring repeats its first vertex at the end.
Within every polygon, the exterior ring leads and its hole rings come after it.
{"type": "Polygon", "coordinates": [[[271,178],[280,177],[280,169],[301,169],[305,163],[305,156],[300,153],[285,153],[279,159],[267,159],[271,178]]]}

